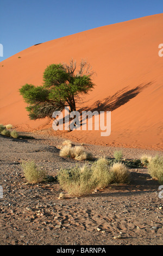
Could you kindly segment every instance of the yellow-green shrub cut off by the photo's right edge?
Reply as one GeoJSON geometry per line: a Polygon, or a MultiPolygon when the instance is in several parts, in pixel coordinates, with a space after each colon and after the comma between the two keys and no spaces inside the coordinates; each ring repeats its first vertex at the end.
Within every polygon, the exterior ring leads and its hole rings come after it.
{"type": "Polygon", "coordinates": [[[155,156],[148,163],[148,172],[152,178],[157,179],[159,183],[163,184],[163,156],[155,156]]]}

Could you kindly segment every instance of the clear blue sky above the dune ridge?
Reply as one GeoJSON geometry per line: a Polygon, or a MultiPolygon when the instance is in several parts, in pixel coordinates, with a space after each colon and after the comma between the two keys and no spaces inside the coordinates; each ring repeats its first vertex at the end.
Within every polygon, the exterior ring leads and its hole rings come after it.
{"type": "Polygon", "coordinates": [[[0,62],[34,44],[163,13],[162,0],[1,0],[0,62]]]}

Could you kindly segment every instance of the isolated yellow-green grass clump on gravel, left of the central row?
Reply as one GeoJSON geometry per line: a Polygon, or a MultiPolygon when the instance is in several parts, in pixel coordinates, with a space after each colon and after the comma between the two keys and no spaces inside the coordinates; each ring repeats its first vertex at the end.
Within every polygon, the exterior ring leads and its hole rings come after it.
{"type": "Polygon", "coordinates": [[[45,181],[47,178],[46,171],[36,166],[34,161],[22,162],[21,167],[23,169],[24,176],[29,183],[40,183],[45,181]]]}

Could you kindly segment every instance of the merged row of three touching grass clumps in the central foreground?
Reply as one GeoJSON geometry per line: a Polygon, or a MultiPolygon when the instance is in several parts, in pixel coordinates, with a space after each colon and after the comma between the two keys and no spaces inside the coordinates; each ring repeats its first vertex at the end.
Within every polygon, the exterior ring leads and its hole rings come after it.
{"type": "Polygon", "coordinates": [[[61,169],[58,181],[63,190],[71,196],[89,194],[95,188],[105,188],[113,183],[125,183],[130,180],[130,172],[123,163],[110,162],[101,157],[91,166],[61,169]]]}

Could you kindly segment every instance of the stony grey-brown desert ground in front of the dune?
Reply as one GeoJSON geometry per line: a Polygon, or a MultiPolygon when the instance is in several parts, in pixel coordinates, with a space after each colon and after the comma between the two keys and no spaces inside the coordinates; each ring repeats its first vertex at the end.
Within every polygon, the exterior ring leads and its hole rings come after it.
{"type": "MultiPolygon", "coordinates": [[[[21,162],[35,160],[49,175],[83,161],[59,156],[61,137],[23,133],[0,135],[0,245],[163,245],[163,198],[146,168],[130,169],[130,184],[112,184],[89,196],[58,199],[58,182],[28,184],[21,162]]],[[[84,145],[95,159],[113,157],[117,148],[84,145]]],[[[126,159],[162,151],[122,148],[126,159]]],[[[91,161],[89,161],[91,164],[91,161]]]]}

